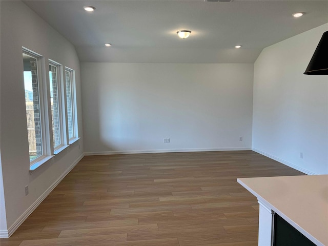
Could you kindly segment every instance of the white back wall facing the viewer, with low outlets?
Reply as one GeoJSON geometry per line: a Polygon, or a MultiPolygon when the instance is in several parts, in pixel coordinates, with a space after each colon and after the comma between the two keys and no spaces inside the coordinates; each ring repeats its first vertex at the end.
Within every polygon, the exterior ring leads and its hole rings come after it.
{"type": "Polygon", "coordinates": [[[253,64],[81,63],[81,79],[86,154],[251,148],[253,64]]]}

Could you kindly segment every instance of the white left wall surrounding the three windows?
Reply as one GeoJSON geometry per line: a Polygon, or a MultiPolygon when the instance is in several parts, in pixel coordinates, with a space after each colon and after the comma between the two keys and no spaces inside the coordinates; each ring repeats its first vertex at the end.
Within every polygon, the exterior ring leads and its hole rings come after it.
{"type": "MultiPolygon", "coordinates": [[[[82,136],[80,70],[75,48],[20,1],[1,1],[1,157],[7,227],[14,230],[33,204],[83,156],[80,139],[30,174],[22,46],[76,72],[79,135],[82,136]],[[79,149],[79,145],[81,148],[79,149]],[[25,196],[25,186],[29,195],[25,196]],[[23,217],[22,217],[23,216],[23,217]]],[[[31,207],[32,206],[32,207],[31,207]]],[[[1,226],[3,223],[1,223],[1,226]]],[[[0,230],[3,230],[2,228],[0,230]]]]}

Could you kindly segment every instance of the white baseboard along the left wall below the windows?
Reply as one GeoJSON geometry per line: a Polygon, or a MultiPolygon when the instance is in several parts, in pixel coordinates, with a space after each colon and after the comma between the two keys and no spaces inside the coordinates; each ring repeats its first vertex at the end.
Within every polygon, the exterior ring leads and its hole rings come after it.
{"type": "Polygon", "coordinates": [[[84,153],[81,154],[69,168],[61,174],[56,181],[39,197],[37,200],[12,224],[8,231],[0,231],[0,238],[10,237],[17,228],[24,222],[24,220],[39,206],[39,204],[55,189],[58,183],[65,178],[65,176],[76,166],[76,164],[84,157],[84,153]]]}

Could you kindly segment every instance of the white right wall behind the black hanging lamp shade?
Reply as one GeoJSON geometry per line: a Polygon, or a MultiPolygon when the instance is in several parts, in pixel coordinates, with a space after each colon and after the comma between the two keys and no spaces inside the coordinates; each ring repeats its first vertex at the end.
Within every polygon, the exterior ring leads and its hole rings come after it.
{"type": "Polygon", "coordinates": [[[328,174],[328,75],[303,74],[327,29],[267,47],[254,65],[253,149],[309,174],[328,174]]]}

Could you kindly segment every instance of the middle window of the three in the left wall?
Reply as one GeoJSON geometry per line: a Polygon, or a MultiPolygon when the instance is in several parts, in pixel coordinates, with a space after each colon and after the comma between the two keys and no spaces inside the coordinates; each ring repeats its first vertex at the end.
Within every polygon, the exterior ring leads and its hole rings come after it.
{"type": "Polygon", "coordinates": [[[49,63],[50,104],[52,119],[52,137],[54,150],[63,145],[63,130],[61,128],[60,83],[58,83],[60,66],[53,61],[49,63]]]}

